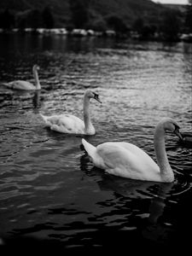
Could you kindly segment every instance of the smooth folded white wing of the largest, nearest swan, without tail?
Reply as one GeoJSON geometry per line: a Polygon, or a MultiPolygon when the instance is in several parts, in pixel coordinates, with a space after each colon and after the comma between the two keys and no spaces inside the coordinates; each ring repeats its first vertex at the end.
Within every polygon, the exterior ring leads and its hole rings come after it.
{"type": "Polygon", "coordinates": [[[154,181],[160,178],[159,166],[131,143],[103,143],[96,147],[96,154],[102,168],[113,175],[154,181]]]}

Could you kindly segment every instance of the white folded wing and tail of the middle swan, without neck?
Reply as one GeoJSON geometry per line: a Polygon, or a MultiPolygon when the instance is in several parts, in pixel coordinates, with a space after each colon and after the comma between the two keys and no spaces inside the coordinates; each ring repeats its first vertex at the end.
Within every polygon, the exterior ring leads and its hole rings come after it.
{"type": "Polygon", "coordinates": [[[84,122],[71,114],[43,116],[43,119],[51,130],[63,133],[84,134],[84,122]]]}

